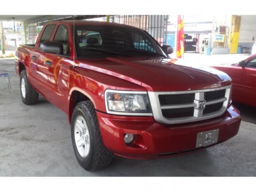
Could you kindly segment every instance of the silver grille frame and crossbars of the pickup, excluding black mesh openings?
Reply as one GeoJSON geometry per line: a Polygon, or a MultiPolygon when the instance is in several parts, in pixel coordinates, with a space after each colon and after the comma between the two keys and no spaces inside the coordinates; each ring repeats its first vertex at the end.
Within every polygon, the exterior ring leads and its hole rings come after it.
{"type": "MultiPolygon", "coordinates": [[[[195,91],[179,91],[179,92],[148,92],[148,96],[150,98],[151,107],[153,111],[153,116],[157,122],[165,123],[165,124],[176,124],[176,123],[187,123],[200,121],[205,119],[210,119],[214,117],[221,116],[225,113],[227,106],[230,102],[230,93],[231,93],[231,85],[227,87],[214,88],[214,89],[205,89],[205,90],[195,90],[195,91]],[[225,96],[217,99],[205,100],[205,92],[212,92],[219,90],[225,90],[225,96]],[[191,103],[179,103],[179,104],[164,104],[161,105],[159,101],[159,95],[176,95],[176,94],[191,94],[195,93],[194,102],[191,103]],[[204,108],[200,109],[199,105],[205,103],[204,108]],[[223,104],[220,104],[223,103],[223,104]],[[207,110],[212,105],[216,104],[217,107],[212,108],[217,111],[204,113],[205,108],[207,110]],[[209,106],[211,105],[211,106],[209,106]],[[193,116],[186,117],[175,117],[175,118],[166,118],[163,116],[162,110],[175,110],[175,109],[191,109],[194,108],[193,116]],[[220,108],[220,109],[219,109],[220,108]]],[[[180,110],[177,110],[180,111],[180,110]]]]}

